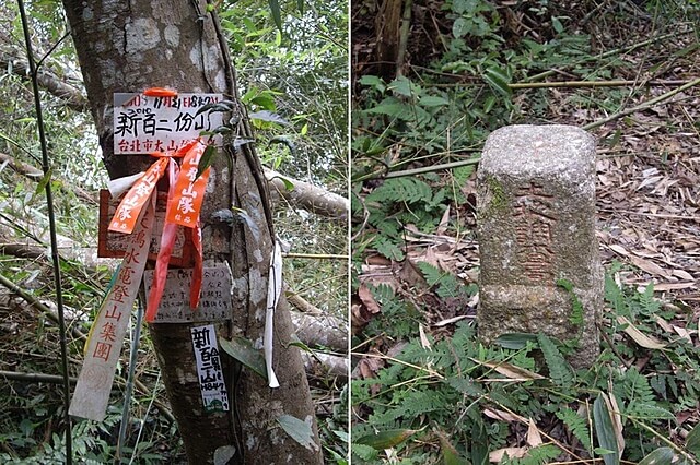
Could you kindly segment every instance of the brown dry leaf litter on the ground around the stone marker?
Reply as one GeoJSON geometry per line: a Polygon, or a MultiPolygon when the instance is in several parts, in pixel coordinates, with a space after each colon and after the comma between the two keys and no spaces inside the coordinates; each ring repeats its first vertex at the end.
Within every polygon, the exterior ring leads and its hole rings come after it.
{"type": "MultiPolygon", "coordinates": [[[[595,50],[598,56],[609,50],[622,49],[622,45],[642,43],[650,37],[662,36],[664,33],[662,31],[664,27],[656,24],[655,20],[652,21],[650,14],[632,2],[595,4],[567,2],[569,3],[574,5],[567,10],[571,27],[578,31],[576,34],[588,34],[592,50],[595,50]],[[590,10],[584,5],[588,5],[590,10]],[[597,7],[594,9],[594,5],[597,7]]],[[[353,43],[355,58],[353,82],[358,90],[362,88],[360,83],[363,75],[380,72],[380,67],[372,62],[373,50],[380,40],[373,32],[378,20],[368,15],[366,8],[362,10],[362,4],[354,9],[353,15],[353,21],[357,22],[353,23],[353,32],[357,32],[353,35],[355,40],[353,43]]],[[[434,32],[442,31],[445,34],[451,31],[450,20],[445,19],[440,9],[433,7],[430,2],[421,3],[420,7],[424,15],[432,19],[423,23],[434,26],[432,34],[427,33],[425,27],[417,27],[415,24],[411,26],[411,32],[417,36],[425,34],[409,40],[406,52],[409,58],[404,65],[404,73],[411,80],[420,80],[416,76],[421,75],[425,70],[424,67],[430,67],[430,60],[435,60],[440,56],[439,52],[424,49],[427,44],[439,41],[435,39],[434,32]],[[411,44],[415,45],[412,49],[411,44]],[[416,57],[416,62],[411,61],[410,57],[416,57]]],[[[503,33],[503,28],[500,29],[502,37],[505,38],[503,41],[508,45],[525,38],[541,41],[541,38],[537,37],[537,27],[533,27],[533,24],[537,24],[537,17],[532,11],[524,11],[521,7],[510,2],[508,5],[500,7],[502,16],[516,20],[515,26],[511,21],[509,27],[505,27],[510,37],[503,33]],[[514,39],[513,36],[518,34],[520,37],[514,39]]],[[[561,8],[567,9],[564,5],[561,8]]],[[[562,10],[558,13],[563,14],[562,10]]],[[[697,80],[700,75],[698,26],[697,19],[695,23],[692,20],[689,23],[678,22],[675,28],[666,28],[666,33],[672,31],[670,36],[620,53],[617,57],[620,65],[612,67],[609,74],[615,81],[628,81],[625,85],[592,87],[571,83],[558,87],[513,88],[512,102],[516,112],[511,115],[509,122],[585,127],[617,111],[643,105],[685,83],[697,80]],[[676,53],[678,50],[684,50],[684,53],[676,53]]],[[[547,27],[551,27],[551,23],[542,26],[545,29],[547,27]]],[[[610,64],[602,60],[599,65],[609,67],[610,64]]],[[[533,63],[533,68],[537,70],[536,63],[533,63]]],[[[454,79],[451,78],[446,78],[448,84],[438,84],[435,88],[452,85],[454,79]]],[[[567,69],[564,65],[551,69],[547,79],[548,82],[581,80],[581,70],[567,69]]],[[[424,88],[430,86],[427,83],[422,84],[424,88]]],[[[360,112],[361,109],[372,107],[372,103],[366,102],[361,92],[355,94],[355,111],[360,112]]],[[[622,287],[643,293],[648,286],[653,286],[654,297],[658,300],[661,308],[670,315],[667,321],[658,322],[661,327],[654,330],[655,334],[665,334],[669,339],[682,338],[695,347],[700,346],[698,334],[700,126],[698,121],[700,121],[700,86],[696,85],[656,105],[615,118],[590,130],[597,140],[596,222],[604,265],[622,287]]],[[[493,126],[489,130],[497,128],[498,126],[493,126]]],[[[355,134],[372,132],[362,123],[355,126],[354,131],[355,134]]],[[[405,140],[397,135],[394,145],[387,151],[401,153],[405,145],[405,140]]],[[[368,159],[372,158],[357,150],[353,155],[355,166],[368,163],[368,159]]],[[[408,166],[410,168],[428,167],[430,155],[421,155],[424,154],[409,155],[413,156],[415,160],[408,166]]],[[[460,159],[459,153],[453,155],[455,158],[447,162],[460,159]]],[[[374,159],[378,158],[374,155],[374,159]]],[[[385,159],[389,158],[392,162],[397,162],[401,159],[401,155],[387,156],[385,159]]],[[[444,159],[441,159],[441,163],[444,163],[444,159]]],[[[386,172],[390,172],[390,168],[387,168],[386,172]]],[[[364,172],[361,175],[363,176],[364,172]]],[[[436,171],[436,175],[439,179],[435,177],[430,179],[433,188],[455,184],[455,177],[450,171],[441,170],[436,171]]],[[[361,179],[364,178],[361,177],[361,179]]],[[[368,195],[382,186],[382,177],[377,177],[369,181],[355,182],[353,188],[364,203],[368,195]]],[[[382,430],[383,426],[376,418],[385,414],[383,407],[377,407],[377,404],[390,404],[392,401],[382,397],[378,393],[381,386],[385,385],[386,378],[390,377],[389,370],[396,369],[396,358],[401,359],[399,354],[407,346],[407,338],[415,336],[425,342],[428,341],[425,334],[428,334],[435,341],[440,341],[453,335],[455,332],[453,325],[456,322],[460,320],[472,322],[476,319],[478,294],[441,297],[436,293],[438,286],[432,286],[432,282],[428,283],[431,285],[427,285],[424,269],[420,265],[425,262],[441,272],[457,276],[464,286],[474,286],[478,283],[479,253],[475,230],[476,172],[471,174],[466,182],[459,184],[458,189],[467,202],[462,204],[450,202],[439,222],[435,222],[438,226],[434,229],[425,231],[425,228],[412,224],[404,225],[402,243],[399,246],[405,253],[404,260],[392,260],[373,247],[362,249],[360,254],[354,257],[358,287],[353,299],[352,320],[355,335],[353,355],[358,362],[353,374],[354,380],[365,380],[366,383],[371,383],[372,380],[376,382],[374,389],[369,388],[370,394],[361,393],[354,396],[358,403],[353,410],[355,414],[353,431],[358,431],[360,436],[372,428],[375,431],[382,430]],[[382,318],[388,300],[386,294],[377,294],[374,290],[381,285],[387,285],[399,300],[410,302],[411,308],[419,309],[419,314],[411,318],[420,322],[420,335],[413,333],[407,338],[394,337],[388,327],[385,327],[387,331],[383,331],[381,324],[376,323],[375,320],[380,319],[385,324],[399,324],[395,319],[382,318]]],[[[366,205],[363,206],[366,207],[366,205]]],[[[355,216],[354,225],[357,241],[369,242],[366,239],[369,236],[382,235],[382,230],[375,229],[371,222],[368,223],[366,219],[363,222],[361,215],[355,216]]],[[[608,310],[610,310],[609,305],[608,310]]],[[[433,341],[432,338],[430,341],[433,341]]],[[[643,371],[650,358],[651,356],[641,355],[629,357],[622,362],[635,365],[640,371],[643,371]]],[[[645,375],[651,380],[655,374],[646,372],[645,375]]],[[[697,373],[692,377],[697,377],[697,373]]],[[[370,385],[358,383],[360,384],[370,385]]],[[[384,391],[381,392],[384,394],[384,391]]],[[[475,404],[477,402],[475,401],[475,404]]],[[[686,427],[691,428],[692,425],[697,425],[700,421],[700,405],[696,403],[695,407],[678,414],[676,420],[677,427],[685,424],[686,427]]],[[[436,422],[440,424],[440,420],[436,422]]],[[[406,424],[397,421],[394,428],[397,428],[397,425],[406,424]]],[[[418,429],[416,425],[422,424],[415,421],[410,425],[410,428],[418,429]]],[[[447,431],[451,430],[450,425],[442,426],[447,431]]],[[[551,432],[551,429],[548,431],[551,432]]],[[[506,441],[508,445],[514,448],[525,444],[523,436],[516,438],[517,433],[513,429],[511,433],[506,441]]],[[[669,433],[670,437],[674,434],[673,431],[669,433]]],[[[681,434],[682,438],[686,434],[687,431],[681,434]]],[[[557,436],[557,438],[563,444],[571,445],[563,437],[557,436]]],[[[677,437],[676,443],[682,443],[682,438],[677,437]]],[[[444,441],[440,433],[428,434],[423,444],[431,442],[442,444],[443,458],[447,463],[444,441]]],[[[398,448],[399,444],[400,441],[397,441],[394,445],[398,448]]],[[[571,450],[576,450],[575,444],[571,450]]],[[[400,457],[416,456],[416,445],[399,448],[399,451],[401,451],[398,453],[400,457]]],[[[575,454],[569,454],[567,458],[573,460],[575,456],[575,454]]],[[[583,458],[587,456],[580,455],[583,458]]],[[[563,458],[560,456],[559,460],[563,458]]]]}

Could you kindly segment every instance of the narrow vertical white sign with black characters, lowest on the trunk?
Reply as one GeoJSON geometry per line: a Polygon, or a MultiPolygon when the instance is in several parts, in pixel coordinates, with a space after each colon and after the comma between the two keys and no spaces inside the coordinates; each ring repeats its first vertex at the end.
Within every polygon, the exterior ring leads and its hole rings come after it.
{"type": "Polygon", "coordinates": [[[195,326],[190,332],[205,412],[229,412],[229,393],[221,370],[214,325],[195,326]]]}

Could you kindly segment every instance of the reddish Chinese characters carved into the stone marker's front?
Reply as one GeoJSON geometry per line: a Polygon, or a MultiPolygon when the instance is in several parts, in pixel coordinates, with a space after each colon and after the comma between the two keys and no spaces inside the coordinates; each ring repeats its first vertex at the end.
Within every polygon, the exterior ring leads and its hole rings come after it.
{"type": "Polygon", "coordinates": [[[530,182],[518,188],[514,199],[513,219],[518,262],[532,281],[553,279],[555,253],[551,233],[556,218],[551,215],[552,195],[541,186],[530,182]]]}

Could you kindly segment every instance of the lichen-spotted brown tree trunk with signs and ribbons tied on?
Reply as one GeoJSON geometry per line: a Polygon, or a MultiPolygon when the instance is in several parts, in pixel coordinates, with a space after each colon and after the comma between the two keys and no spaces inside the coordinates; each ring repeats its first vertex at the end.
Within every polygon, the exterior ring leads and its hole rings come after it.
{"type": "MultiPolygon", "coordinates": [[[[139,172],[152,162],[148,156],[114,155],[113,93],[161,86],[223,93],[238,102],[228,45],[205,2],[65,0],[63,5],[112,179],[139,172]]],[[[240,114],[244,116],[240,135],[249,138],[242,106],[240,114]]],[[[215,157],[207,192],[201,212],[205,264],[228,262],[234,283],[231,320],[217,323],[218,336],[259,342],[273,235],[266,181],[250,144],[215,157]],[[258,235],[242,224],[207,226],[212,212],[231,205],[247,212],[258,226],[258,235]]],[[[150,325],[189,462],[212,463],[218,448],[234,445],[236,452],[230,462],[234,464],[320,464],[303,362],[299,350],[287,344],[292,332],[289,313],[280,310],[275,318],[275,371],[281,386],[269,389],[266,380],[224,356],[232,408],[222,414],[203,413],[190,326],[150,325]],[[299,444],[280,428],[277,419],[284,414],[313,425],[316,448],[299,444]]]]}

